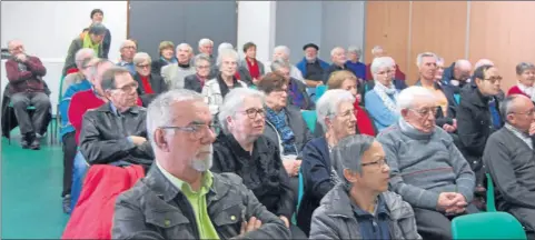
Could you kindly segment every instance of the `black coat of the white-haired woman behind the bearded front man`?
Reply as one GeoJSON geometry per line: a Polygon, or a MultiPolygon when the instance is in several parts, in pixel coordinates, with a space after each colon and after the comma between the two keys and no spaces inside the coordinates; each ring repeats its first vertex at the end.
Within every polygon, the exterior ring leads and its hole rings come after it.
{"type": "Polygon", "coordinates": [[[279,147],[266,137],[260,136],[255,141],[251,154],[231,134],[219,134],[214,143],[211,171],[238,174],[270,212],[291,219],[295,201],[289,177],[279,147]]]}

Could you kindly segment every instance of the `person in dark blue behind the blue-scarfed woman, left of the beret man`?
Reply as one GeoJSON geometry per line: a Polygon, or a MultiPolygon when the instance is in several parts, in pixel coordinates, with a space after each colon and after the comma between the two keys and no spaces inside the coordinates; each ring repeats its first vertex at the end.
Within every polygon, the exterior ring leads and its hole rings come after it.
{"type": "Polygon", "coordinates": [[[307,86],[290,76],[290,64],[283,59],[275,59],[271,62],[271,72],[283,76],[288,82],[288,104],[298,107],[301,110],[314,109],[314,101],[307,93],[307,86]]]}

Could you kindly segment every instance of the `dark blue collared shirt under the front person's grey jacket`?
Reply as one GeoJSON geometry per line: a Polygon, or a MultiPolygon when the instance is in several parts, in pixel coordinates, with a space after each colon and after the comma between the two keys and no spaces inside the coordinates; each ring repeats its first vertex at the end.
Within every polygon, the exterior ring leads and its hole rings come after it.
{"type": "Polygon", "coordinates": [[[363,239],[390,239],[390,212],[380,194],[377,197],[377,203],[373,213],[360,209],[353,202],[351,207],[360,227],[363,239]]]}

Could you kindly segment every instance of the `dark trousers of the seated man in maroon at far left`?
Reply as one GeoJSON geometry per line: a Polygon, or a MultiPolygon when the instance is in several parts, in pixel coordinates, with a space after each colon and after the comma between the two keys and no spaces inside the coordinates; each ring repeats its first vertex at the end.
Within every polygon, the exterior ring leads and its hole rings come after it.
{"type": "Polygon", "coordinates": [[[50,110],[50,99],[43,92],[18,92],[11,96],[14,116],[19,122],[20,133],[42,133],[44,118],[50,110]],[[36,112],[30,119],[27,108],[33,106],[36,112]]]}

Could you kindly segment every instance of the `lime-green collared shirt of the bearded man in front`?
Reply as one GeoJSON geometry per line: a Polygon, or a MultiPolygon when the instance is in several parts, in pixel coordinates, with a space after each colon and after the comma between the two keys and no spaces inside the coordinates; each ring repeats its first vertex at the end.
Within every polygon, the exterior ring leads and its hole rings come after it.
{"type": "Polygon", "coordinates": [[[169,173],[158,163],[158,161],[156,161],[156,166],[158,169],[160,169],[161,173],[164,173],[164,176],[188,199],[195,212],[195,220],[197,222],[197,228],[199,229],[200,239],[219,239],[219,234],[211,222],[210,216],[208,216],[208,206],[206,203],[206,194],[210,191],[210,188],[214,183],[214,176],[211,172],[205,172],[202,176],[202,186],[200,190],[196,192],[191,189],[190,184],[169,173]]]}

